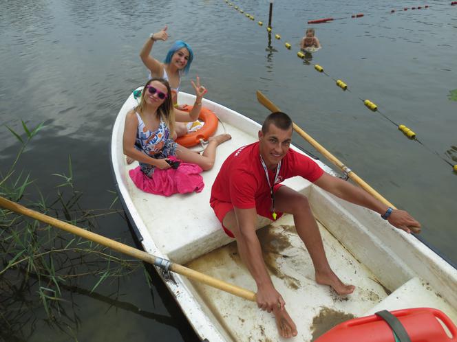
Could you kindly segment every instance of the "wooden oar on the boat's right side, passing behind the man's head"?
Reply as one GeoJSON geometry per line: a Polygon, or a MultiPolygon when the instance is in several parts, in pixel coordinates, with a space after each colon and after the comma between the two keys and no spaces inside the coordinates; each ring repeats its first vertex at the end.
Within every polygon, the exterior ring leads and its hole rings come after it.
{"type": "MultiPolygon", "coordinates": [[[[280,111],[280,109],[273,102],[268,100],[268,98],[259,90],[257,90],[257,100],[272,112],[280,111]]],[[[348,177],[350,179],[352,179],[352,181],[357,183],[363,190],[365,190],[369,194],[372,194],[372,196],[374,196],[374,198],[377,198],[379,201],[381,201],[385,205],[388,205],[389,207],[396,209],[396,207],[392,203],[390,203],[389,201],[387,201],[387,199],[385,199],[383,196],[381,196],[381,194],[379,194],[379,192],[376,192],[376,190],[374,190],[370,185],[368,185],[368,183],[366,183],[365,181],[363,181],[363,179],[361,179],[359,176],[357,176],[357,174],[355,174],[354,171],[352,171],[350,168],[348,168],[348,166],[341,163],[341,161],[339,161],[339,159],[337,159],[337,157],[334,157],[334,155],[332,155],[330,152],[328,152],[328,150],[323,148],[323,146],[321,146],[321,144],[319,144],[317,141],[315,141],[315,139],[312,139],[312,137],[310,135],[308,135],[304,130],[302,130],[299,126],[297,126],[297,124],[295,124],[295,122],[293,123],[293,127],[294,127],[295,132],[297,132],[303,139],[308,141],[308,143],[310,143],[324,157],[326,157],[329,161],[334,163],[334,165],[338,166],[338,168],[343,170],[343,172],[346,172],[346,174],[348,174],[348,177]]],[[[421,232],[420,227],[408,227],[408,228],[410,228],[414,233],[421,232]]]]}

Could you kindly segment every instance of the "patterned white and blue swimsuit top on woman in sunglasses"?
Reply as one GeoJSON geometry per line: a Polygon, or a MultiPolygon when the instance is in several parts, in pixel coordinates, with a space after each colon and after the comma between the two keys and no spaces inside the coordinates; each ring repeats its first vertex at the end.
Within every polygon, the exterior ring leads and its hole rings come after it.
{"type": "MultiPolygon", "coordinates": [[[[159,126],[151,132],[146,128],[140,114],[136,113],[138,118],[138,130],[136,131],[135,148],[154,159],[163,159],[175,155],[176,144],[170,137],[170,130],[167,124],[160,118],[159,126]]],[[[149,177],[152,176],[155,167],[148,163],[141,163],[142,172],[149,177]]]]}

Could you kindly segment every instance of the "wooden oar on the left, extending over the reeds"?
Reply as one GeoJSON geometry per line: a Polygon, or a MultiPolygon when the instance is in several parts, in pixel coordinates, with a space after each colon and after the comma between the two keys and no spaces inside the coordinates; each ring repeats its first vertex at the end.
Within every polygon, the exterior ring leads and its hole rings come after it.
{"type": "Polygon", "coordinates": [[[87,240],[94,241],[98,244],[102,244],[110,249],[114,249],[114,251],[118,251],[120,253],[124,253],[126,255],[130,255],[131,257],[140,259],[145,262],[149,262],[149,264],[155,264],[156,266],[169,266],[169,270],[175,273],[179,273],[180,275],[184,275],[191,280],[196,280],[198,282],[202,282],[206,285],[212,286],[214,288],[218,288],[225,292],[231,293],[232,295],[242,297],[244,299],[248,299],[250,301],[255,301],[255,293],[250,290],[246,290],[239,286],[229,284],[223,282],[222,280],[218,280],[214,277],[209,275],[205,275],[198,271],[194,271],[192,269],[188,269],[180,264],[175,264],[173,262],[169,262],[168,260],[164,260],[162,258],[156,257],[155,255],[151,255],[146,253],[145,251],[140,251],[134,247],[127,246],[127,244],[123,244],[109,238],[105,238],[105,236],[98,235],[96,233],[92,233],[92,231],[87,231],[85,229],[76,227],[75,225],[70,225],[70,223],[63,222],[58,220],[57,218],[53,218],[51,216],[47,216],[45,214],[41,214],[39,212],[35,212],[32,209],[28,209],[23,205],[18,203],[9,201],[6,198],[0,196],[0,207],[4,207],[12,212],[16,212],[17,214],[29,216],[34,218],[35,220],[40,220],[43,223],[47,223],[48,225],[52,225],[56,228],[68,231],[73,233],[77,236],[81,236],[87,240]]]}

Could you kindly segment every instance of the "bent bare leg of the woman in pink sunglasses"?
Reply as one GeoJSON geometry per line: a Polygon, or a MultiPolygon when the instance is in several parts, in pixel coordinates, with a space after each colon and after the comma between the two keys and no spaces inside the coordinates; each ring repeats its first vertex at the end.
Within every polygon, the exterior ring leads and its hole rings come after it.
{"type": "Polygon", "coordinates": [[[189,148],[178,145],[178,148],[176,148],[176,157],[187,163],[197,164],[204,171],[210,170],[214,166],[217,146],[229,139],[231,139],[229,134],[220,134],[209,138],[208,146],[206,146],[203,155],[198,155],[197,153],[189,150],[189,148]]]}

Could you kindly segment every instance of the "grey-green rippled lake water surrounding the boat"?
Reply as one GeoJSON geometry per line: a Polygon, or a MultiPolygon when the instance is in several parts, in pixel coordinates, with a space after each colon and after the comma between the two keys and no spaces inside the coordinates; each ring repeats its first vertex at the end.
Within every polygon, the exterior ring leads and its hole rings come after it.
{"type": "MultiPolygon", "coordinates": [[[[261,90],[374,189],[421,221],[421,238],[457,263],[457,174],[443,161],[457,163],[457,102],[450,96],[457,89],[457,6],[449,4],[276,0],[278,41],[266,32],[266,0],[234,2],[254,21],[223,0],[0,0],[0,124],[21,131],[20,119],[29,126],[45,121],[21,168],[32,172],[43,193],[55,194],[59,179],[52,174],[67,172],[71,155],[75,186],[84,192],[80,205],[109,207],[111,126],[129,93],[146,80],[138,56],[142,44],[167,24],[169,41],[156,43],[153,56],[164,58],[177,39],[193,47],[183,91],[193,91],[190,80],[198,75],[209,89],[206,98],[262,122],[268,111],[255,98],[261,90]],[[424,5],[429,8],[402,10],[424,5]],[[350,18],[357,13],[365,15],[350,18]],[[329,16],[339,20],[312,25],[322,49],[310,62],[297,58],[306,22],[329,16]],[[346,82],[350,91],[332,78],[346,82]],[[361,99],[410,127],[424,146],[361,99]]],[[[3,170],[18,146],[3,126],[0,140],[3,170]]],[[[98,233],[134,245],[125,220],[107,218],[98,233]]],[[[99,296],[75,295],[77,339],[194,341],[166,288],[157,278],[154,284],[150,291],[139,271],[120,284],[104,284],[96,290],[99,296]]],[[[33,328],[30,341],[69,339],[43,320],[33,328]]]]}

